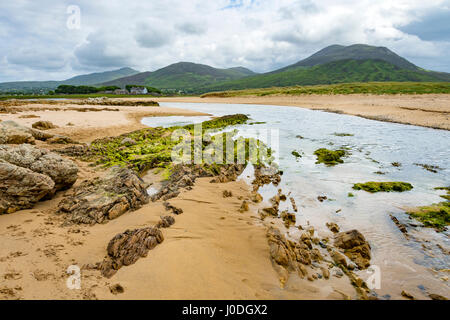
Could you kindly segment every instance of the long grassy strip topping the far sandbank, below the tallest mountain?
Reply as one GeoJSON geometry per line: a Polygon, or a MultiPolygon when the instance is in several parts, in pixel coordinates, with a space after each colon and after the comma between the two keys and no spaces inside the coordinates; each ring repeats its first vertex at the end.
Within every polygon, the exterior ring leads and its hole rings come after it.
{"type": "Polygon", "coordinates": [[[208,97],[271,96],[271,95],[336,95],[336,94],[450,94],[450,82],[366,82],[293,87],[271,87],[203,94],[208,97]]]}

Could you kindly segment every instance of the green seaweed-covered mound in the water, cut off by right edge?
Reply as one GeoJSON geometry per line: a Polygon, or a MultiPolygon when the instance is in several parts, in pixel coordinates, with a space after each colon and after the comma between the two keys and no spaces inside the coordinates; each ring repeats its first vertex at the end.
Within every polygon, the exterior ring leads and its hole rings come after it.
{"type": "Polygon", "coordinates": [[[435,228],[437,231],[444,231],[450,224],[450,201],[418,207],[406,213],[422,222],[425,227],[435,228]]]}

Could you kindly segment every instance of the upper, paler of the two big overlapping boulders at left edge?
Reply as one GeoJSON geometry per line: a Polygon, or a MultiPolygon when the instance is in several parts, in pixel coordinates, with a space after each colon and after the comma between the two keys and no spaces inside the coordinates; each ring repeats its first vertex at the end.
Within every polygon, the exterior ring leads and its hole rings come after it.
{"type": "Polygon", "coordinates": [[[78,178],[78,167],[73,161],[29,144],[0,146],[0,159],[49,176],[55,183],[54,191],[70,188],[78,178]]]}

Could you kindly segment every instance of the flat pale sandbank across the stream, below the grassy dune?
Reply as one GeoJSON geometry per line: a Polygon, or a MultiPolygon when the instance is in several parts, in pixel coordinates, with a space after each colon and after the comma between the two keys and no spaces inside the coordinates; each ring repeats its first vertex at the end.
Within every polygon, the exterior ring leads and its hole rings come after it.
{"type": "MultiPolygon", "coordinates": [[[[138,100],[138,99],[137,99],[138,100]]],[[[450,95],[305,95],[155,98],[158,102],[253,104],[299,107],[370,120],[450,130],[450,95]]]]}

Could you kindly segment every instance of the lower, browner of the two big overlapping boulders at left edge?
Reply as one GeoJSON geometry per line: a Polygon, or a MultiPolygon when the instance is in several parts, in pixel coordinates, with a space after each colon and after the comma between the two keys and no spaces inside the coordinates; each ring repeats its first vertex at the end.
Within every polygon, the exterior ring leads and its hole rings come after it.
{"type": "Polygon", "coordinates": [[[54,187],[50,177],[0,159],[0,214],[30,209],[54,187]]]}

